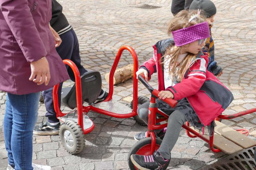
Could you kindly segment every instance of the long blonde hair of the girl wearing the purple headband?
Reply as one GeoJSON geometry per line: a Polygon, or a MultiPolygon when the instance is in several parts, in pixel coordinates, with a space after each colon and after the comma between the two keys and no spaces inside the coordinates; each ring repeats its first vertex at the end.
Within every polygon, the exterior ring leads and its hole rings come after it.
{"type": "MultiPolygon", "coordinates": [[[[186,10],[180,11],[168,23],[168,29],[167,29],[168,35],[171,35],[172,31],[186,28],[186,27],[199,24],[205,21],[206,18],[200,15],[195,17],[192,21],[189,22],[189,19],[191,18],[191,16],[195,14],[197,14],[197,11],[186,11],[186,10]]],[[[170,75],[174,75],[175,69],[179,67],[177,71],[178,81],[181,81],[183,79],[187,69],[189,69],[190,63],[193,60],[195,61],[195,58],[197,55],[197,54],[188,53],[187,56],[180,63],[177,63],[178,56],[180,55],[180,52],[181,52],[181,47],[176,47],[171,45],[166,49],[164,55],[161,58],[162,64],[164,64],[164,62],[168,61],[168,59],[170,58],[170,63],[168,66],[170,75]],[[167,56],[167,58],[164,59],[164,56],[167,56]]]]}

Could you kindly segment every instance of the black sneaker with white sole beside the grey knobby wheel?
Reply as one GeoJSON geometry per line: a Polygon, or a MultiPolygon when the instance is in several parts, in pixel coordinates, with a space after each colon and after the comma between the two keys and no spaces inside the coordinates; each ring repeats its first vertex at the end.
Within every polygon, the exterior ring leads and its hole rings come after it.
{"type": "Polygon", "coordinates": [[[48,121],[36,125],[33,130],[34,135],[57,135],[59,134],[60,123],[51,125],[48,121]]]}

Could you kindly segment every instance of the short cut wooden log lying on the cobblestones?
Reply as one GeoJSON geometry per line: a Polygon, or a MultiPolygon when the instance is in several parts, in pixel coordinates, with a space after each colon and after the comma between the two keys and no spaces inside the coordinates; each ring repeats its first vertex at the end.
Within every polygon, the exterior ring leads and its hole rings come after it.
{"type": "MultiPolygon", "coordinates": [[[[109,83],[109,74],[105,74],[105,79],[109,83]]],[[[128,64],[124,67],[121,67],[115,71],[114,74],[114,85],[123,83],[124,81],[133,77],[133,64],[128,64]]]]}

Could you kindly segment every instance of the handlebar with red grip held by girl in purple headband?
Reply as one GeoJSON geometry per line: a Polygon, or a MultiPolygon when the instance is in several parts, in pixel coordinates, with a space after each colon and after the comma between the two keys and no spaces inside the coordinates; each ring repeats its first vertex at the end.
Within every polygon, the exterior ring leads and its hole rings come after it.
{"type": "MultiPolygon", "coordinates": [[[[154,89],[151,85],[149,85],[146,80],[145,80],[145,76],[143,74],[138,75],[138,79],[141,81],[141,83],[143,85],[145,85],[145,87],[149,90],[149,92],[151,94],[153,94],[154,96],[158,97],[158,94],[160,93],[160,91],[158,91],[157,89],[154,89]]],[[[161,99],[162,101],[164,101],[165,103],[167,103],[168,105],[170,105],[172,108],[174,108],[177,105],[177,101],[173,100],[173,99],[161,99]]]]}

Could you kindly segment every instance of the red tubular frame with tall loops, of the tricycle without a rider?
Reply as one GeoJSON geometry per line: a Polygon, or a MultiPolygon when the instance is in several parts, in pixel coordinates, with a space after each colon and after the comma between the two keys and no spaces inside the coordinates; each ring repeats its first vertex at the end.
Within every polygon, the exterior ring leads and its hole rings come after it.
{"type": "MultiPolygon", "coordinates": [[[[91,132],[95,125],[93,123],[93,126],[89,129],[85,129],[83,128],[83,112],[88,113],[90,110],[100,113],[100,114],[104,114],[104,115],[108,115],[111,117],[115,117],[115,118],[130,118],[133,116],[137,115],[137,103],[138,103],[138,80],[136,78],[136,72],[138,71],[138,57],[136,52],[134,51],[134,49],[130,46],[122,46],[116,55],[116,58],[114,60],[113,66],[111,68],[110,71],[110,75],[109,75],[109,93],[107,98],[103,101],[109,101],[112,99],[112,95],[113,95],[113,91],[114,91],[114,73],[115,70],[117,68],[118,62],[121,58],[121,55],[123,53],[124,50],[128,50],[132,57],[133,57],[133,110],[131,113],[128,114],[118,114],[118,113],[113,113],[113,112],[109,112],[106,110],[102,110],[96,107],[93,107],[92,105],[90,106],[83,106],[83,102],[82,102],[82,88],[81,88],[81,77],[80,77],[80,73],[79,70],[77,69],[76,65],[70,61],[70,60],[63,60],[64,64],[67,64],[71,67],[71,69],[74,72],[75,75],[75,83],[76,83],[76,96],[77,96],[77,112],[78,112],[78,124],[81,126],[81,128],[83,129],[84,134],[91,132]]],[[[54,85],[53,87],[53,104],[54,104],[54,110],[56,112],[56,117],[62,117],[65,116],[65,113],[62,113],[60,108],[59,108],[59,99],[58,99],[58,88],[59,88],[59,84],[58,85],[54,85]]]]}

